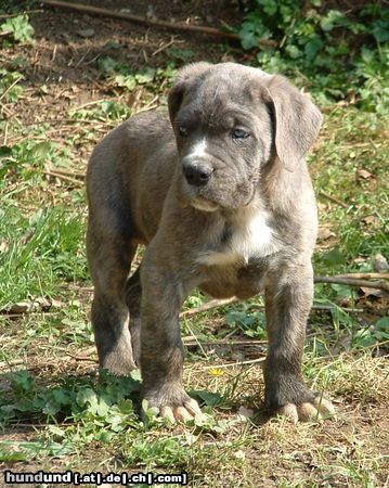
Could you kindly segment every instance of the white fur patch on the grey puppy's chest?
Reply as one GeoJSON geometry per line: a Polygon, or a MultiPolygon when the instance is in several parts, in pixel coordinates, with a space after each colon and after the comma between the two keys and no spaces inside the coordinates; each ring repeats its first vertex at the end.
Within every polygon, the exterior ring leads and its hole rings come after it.
{"type": "Polygon", "coordinates": [[[275,253],[278,246],[265,215],[251,214],[232,227],[231,237],[223,249],[203,254],[198,262],[206,266],[244,266],[250,258],[275,253]]]}

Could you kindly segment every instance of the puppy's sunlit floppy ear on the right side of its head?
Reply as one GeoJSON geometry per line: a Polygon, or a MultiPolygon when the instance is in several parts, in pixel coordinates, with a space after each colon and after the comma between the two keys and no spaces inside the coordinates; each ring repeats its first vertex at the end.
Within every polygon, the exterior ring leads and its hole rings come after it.
{"type": "Polygon", "coordinates": [[[309,95],[283,76],[274,76],[268,89],[274,105],[275,150],[284,167],[294,171],[316,140],[323,116],[309,95]]]}

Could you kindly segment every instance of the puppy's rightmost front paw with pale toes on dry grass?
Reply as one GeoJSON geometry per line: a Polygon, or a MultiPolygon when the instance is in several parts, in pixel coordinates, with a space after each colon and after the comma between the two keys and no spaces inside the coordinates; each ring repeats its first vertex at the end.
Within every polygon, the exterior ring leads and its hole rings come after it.
{"type": "Polygon", "coordinates": [[[293,423],[323,421],[325,419],[336,420],[335,407],[329,400],[315,396],[312,401],[302,403],[286,403],[281,407],[277,414],[288,418],[293,423]]]}

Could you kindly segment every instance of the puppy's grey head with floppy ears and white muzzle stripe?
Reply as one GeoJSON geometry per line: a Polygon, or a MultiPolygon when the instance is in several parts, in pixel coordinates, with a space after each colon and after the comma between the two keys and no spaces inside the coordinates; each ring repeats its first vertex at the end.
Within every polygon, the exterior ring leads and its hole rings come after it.
{"type": "Polygon", "coordinates": [[[183,68],[169,93],[169,114],[182,194],[205,211],[248,205],[274,150],[286,170],[296,170],[322,121],[285,78],[234,63],[183,68]]]}

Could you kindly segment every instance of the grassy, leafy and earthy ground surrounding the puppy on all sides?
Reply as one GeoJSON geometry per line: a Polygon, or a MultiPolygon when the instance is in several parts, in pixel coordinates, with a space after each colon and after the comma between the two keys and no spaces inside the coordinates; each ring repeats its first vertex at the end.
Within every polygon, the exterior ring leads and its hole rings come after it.
{"type": "Polygon", "coordinates": [[[238,40],[43,3],[0,2],[1,468],[187,472],[195,487],[388,486],[387,2],[76,2],[238,40]],[[325,114],[309,162],[314,264],[337,278],[316,283],[304,374],[335,400],[337,422],[267,416],[261,297],[205,311],[199,293],[185,303],[185,384],[203,422],[171,426],[146,406],[141,422],[139,373],[96,381],[88,156],[121,120],[165,107],[177,69],[199,60],[282,73],[325,114]]]}

